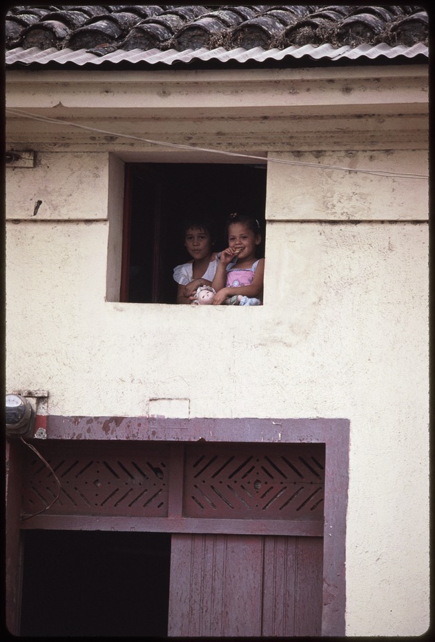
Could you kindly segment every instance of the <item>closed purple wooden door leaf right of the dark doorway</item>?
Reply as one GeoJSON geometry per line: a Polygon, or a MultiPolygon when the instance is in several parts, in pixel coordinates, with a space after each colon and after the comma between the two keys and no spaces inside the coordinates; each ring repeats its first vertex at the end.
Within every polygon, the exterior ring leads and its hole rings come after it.
{"type": "Polygon", "coordinates": [[[168,636],[316,636],[322,538],[173,535],[168,636]]]}

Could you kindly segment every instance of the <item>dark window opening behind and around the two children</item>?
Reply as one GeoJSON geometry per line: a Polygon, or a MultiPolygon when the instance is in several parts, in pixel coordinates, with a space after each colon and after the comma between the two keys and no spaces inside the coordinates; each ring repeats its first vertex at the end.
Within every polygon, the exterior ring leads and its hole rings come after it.
{"type": "Polygon", "coordinates": [[[260,222],[264,256],[266,165],[128,163],[120,300],[175,303],[173,268],[191,259],[182,221],[191,214],[213,217],[215,250],[227,247],[224,224],[231,212],[249,212],[260,222]]]}

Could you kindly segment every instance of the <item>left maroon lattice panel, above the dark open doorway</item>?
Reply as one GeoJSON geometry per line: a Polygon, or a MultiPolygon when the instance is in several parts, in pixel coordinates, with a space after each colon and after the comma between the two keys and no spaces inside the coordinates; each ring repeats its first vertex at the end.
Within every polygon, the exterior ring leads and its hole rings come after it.
{"type": "MultiPolygon", "coordinates": [[[[61,484],[48,515],[166,517],[169,449],[156,443],[40,442],[39,452],[61,484]]],[[[23,512],[50,505],[59,486],[43,461],[28,455],[23,512]]]]}

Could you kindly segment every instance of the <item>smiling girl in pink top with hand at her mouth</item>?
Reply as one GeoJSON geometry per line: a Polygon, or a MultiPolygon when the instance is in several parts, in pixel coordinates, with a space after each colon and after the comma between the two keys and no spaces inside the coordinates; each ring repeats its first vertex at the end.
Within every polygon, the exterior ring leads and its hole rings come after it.
{"type": "Polygon", "coordinates": [[[261,305],[264,259],[257,259],[260,224],[247,214],[231,214],[226,224],[229,247],[220,253],[212,287],[213,305],[261,305]]]}

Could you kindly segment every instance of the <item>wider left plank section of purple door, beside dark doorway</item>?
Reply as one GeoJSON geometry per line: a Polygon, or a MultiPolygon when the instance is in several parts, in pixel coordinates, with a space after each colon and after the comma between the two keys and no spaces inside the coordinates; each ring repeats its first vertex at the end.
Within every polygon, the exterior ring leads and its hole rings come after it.
{"type": "Polygon", "coordinates": [[[260,636],[262,538],[173,535],[168,636],[260,636]]]}

